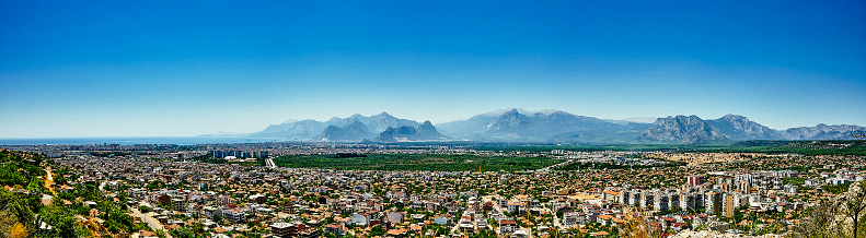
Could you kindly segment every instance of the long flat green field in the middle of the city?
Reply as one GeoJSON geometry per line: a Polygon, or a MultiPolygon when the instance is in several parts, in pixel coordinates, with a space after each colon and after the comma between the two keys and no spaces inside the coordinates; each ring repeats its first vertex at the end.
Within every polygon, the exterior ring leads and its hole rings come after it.
{"type": "Polygon", "coordinates": [[[546,157],[482,157],[473,155],[368,154],[337,158],[334,155],[288,155],[274,158],[280,167],[349,170],[519,171],[539,169],[562,160],[546,157]]]}

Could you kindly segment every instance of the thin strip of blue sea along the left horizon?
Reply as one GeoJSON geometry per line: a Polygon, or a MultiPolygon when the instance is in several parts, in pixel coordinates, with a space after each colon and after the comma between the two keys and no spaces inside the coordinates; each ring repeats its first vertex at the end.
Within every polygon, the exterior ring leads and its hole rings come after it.
{"type": "Polygon", "coordinates": [[[155,136],[155,138],[49,138],[49,139],[0,139],[0,145],[53,145],[53,144],[234,144],[234,143],[262,143],[282,142],[286,139],[277,138],[223,138],[223,136],[155,136]]]}

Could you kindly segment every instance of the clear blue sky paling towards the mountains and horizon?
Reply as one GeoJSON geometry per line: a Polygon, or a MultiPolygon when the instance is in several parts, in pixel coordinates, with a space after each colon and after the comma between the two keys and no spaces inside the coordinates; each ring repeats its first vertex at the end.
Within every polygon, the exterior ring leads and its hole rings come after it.
{"type": "Polygon", "coordinates": [[[866,124],[864,1],[2,1],[0,138],[388,111],[866,124]]]}

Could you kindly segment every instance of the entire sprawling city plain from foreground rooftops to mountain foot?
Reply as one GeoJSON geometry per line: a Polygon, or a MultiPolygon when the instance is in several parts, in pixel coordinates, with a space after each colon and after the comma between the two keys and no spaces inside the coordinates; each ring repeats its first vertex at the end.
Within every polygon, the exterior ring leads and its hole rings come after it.
{"type": "Polygon", "coordinates": [[[71,215],[72,224],[41,219],[41,228],[25,230],[67,227],[48,230],[88,237],[783,236],[797,234],[817,207],[866,177],[866,157],[844,151],[349,143],[3,147],[4,169],[28,158],[23,163],[45,171],[36,188],[7,176],[11,194],[4,195],[36,195],[44,207],[71,215]],[[298,167],[310,156],[342,167],[298,167]],[[351,167],[377,156],[472,167],[351,167]],[[513,165],[484,160],[499,157],[513,165]],[[475,160],[484,163],[476,169],[475,160]]]}

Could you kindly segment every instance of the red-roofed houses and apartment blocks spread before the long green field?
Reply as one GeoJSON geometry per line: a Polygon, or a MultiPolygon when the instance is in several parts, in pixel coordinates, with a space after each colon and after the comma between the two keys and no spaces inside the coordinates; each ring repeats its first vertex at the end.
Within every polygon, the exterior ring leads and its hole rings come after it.
{"type": "MultiPolygon", "coordinates": [[[[356,150],[369,148],[335,151],[356,150]]],[[[232,152],[243,156],[241,150],[232,152]]],[[[550,155],[616,157],[604,152],[554,151],[550,155]]],[[[199,223],[216,237],[492,234],[543,238],[554,233],[607,237],[638,219],[667,234],[696,227],[785,229],[801,222],[806,207],[830,195],[823,186],[864,178],[856,160],[862,163],[862,158],[770,159],[778,160],[755,162],[755,167],[737,163],[518,174],[265,168],[89,155],[58,162],[77,174],[70,177],[72,183],[100,186],[124,198],[130,207],[145,206],[164,227],[199,223]],[[790,167],[785,163],[836,164],[839,168],[760,168],[762,164],[790,167]],[[742,214],[754,216],[742,218],[742,214]]]]}

